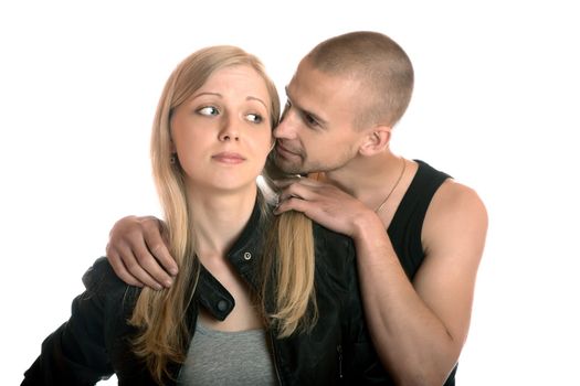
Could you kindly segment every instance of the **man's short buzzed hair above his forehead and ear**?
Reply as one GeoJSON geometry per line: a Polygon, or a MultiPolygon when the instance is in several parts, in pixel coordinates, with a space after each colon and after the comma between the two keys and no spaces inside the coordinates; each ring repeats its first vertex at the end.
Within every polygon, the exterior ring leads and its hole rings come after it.
{"type": "Polygon", "coordinates": [[[378,32],[351,32],[315,46],[306,60],[329,75],[360,79],[367,109],[355,126],[394,126],[403,116],[413,92],[413,66],[407,53],[378,32]]]}

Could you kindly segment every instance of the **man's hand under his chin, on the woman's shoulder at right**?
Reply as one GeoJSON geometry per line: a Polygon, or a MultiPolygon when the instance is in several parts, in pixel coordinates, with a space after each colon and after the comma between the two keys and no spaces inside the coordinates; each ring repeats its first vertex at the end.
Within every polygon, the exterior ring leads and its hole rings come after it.
{"type": "Polygon", "coordinates": [[[357,232],[357,222],[375,216],[362,202],[329,183],[300,178],[277,180],[275,184],[282,190],[275,214],[302,212],[318,224],[350,237],[357,232]]]}

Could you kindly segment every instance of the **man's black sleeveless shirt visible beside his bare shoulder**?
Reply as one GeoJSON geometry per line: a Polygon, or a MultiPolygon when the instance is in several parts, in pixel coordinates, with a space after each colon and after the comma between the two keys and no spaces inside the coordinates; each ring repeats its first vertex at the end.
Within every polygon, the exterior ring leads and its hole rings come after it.
{"type": "MultiPolygon", "coordinates": [[[[411,185],[409,185],[387,229],[397,257],[409,280],[413,280],[425,258],[421,244],[421,229],[423,228],[426,210],[437,189],[450,178],[449,174],[433,169],[423,161],[414,161],[419,163],[416,174],[411,181],[411,185]]],[[[456,369],[457,367],[455,366],[444,386],[455,385],[456,369]]]]}

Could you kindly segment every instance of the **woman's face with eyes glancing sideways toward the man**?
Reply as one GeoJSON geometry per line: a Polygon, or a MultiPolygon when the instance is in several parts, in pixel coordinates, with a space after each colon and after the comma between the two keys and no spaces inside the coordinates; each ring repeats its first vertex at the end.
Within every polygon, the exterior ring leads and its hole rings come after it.
{"type": "Polygon", "coordinates": [[[272,146],[270,95],[250,66],[213,73],[171,118],[171,138],[188,186],[255,186],[272,146]]]}

